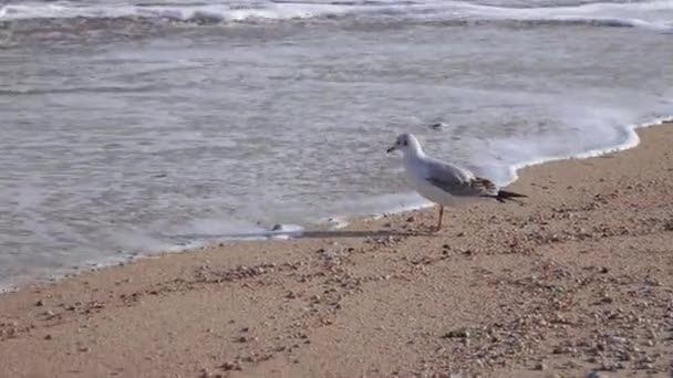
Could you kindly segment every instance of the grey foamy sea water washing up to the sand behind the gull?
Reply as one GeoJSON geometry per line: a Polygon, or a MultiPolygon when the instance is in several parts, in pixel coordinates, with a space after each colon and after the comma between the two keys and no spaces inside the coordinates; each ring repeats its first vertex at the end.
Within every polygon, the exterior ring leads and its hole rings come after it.
{"type": "Polygon", "coordinates": [[[632,146],[672,62],[670,0],[0,0],[0,284],[421,206],[401,132],[499,183],[632,146]]]}

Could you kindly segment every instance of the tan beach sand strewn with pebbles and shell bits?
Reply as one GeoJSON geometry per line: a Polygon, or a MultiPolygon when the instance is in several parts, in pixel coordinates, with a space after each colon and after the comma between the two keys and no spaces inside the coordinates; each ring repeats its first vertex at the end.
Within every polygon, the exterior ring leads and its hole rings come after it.
{"type": "Polygon", "coordinates": [[[0,296],[0,377],[669,377],[673,127],[526,206],[237,242],[0,296]]]}

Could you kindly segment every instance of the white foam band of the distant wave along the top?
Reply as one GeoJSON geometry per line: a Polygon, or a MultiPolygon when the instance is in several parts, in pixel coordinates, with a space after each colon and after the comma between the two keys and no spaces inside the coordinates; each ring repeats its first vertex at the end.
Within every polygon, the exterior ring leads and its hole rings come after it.
{"type": "Polygon", "coordinates": [[[236,9],[224,4],[211,6],[81,6],[74,2],[6,4],[0,8],[0,20],[66,19],[66,18],[146,18],[175,21],[245,21],[250,19],[287,20],[329,15],[394,15],[403,19],[477,19],[511,21],[579,21],[604,22],[658,31],[673,31],[664,21],[646,21],[620,13],[633,11],[673,10],[671,1],[646,3],[590,3],[561,7],[507,8],[473,4],[464,1],[436,1],[426,3],[266,3],[260,8],[236,9]],[[610,14],[612,12],[613,14],[610,14]]]}

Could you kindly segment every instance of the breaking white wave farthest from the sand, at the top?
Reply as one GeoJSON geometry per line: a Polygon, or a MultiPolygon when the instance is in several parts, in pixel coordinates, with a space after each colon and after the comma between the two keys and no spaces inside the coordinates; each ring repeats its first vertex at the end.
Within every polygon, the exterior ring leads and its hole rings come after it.
{"type": "MultiPolygon", "coordinates": [[[[240,4],[135,4],[82,6],[74,2],[6,4],[0,22],[30,20],[125,20],[217,24],[300,19],[358,18],[364,20],[408,20],[472,22],[516,22],[525,24],[567,24],[608,28],[642,28],[673,31],[665,15],[673,17],[673,2],[591,3],[562,7],[511,8],[463,1],[426,2],[261,2],[240,4]]],[[[670,19],[670,18],[669,18],[670,19]]]]}

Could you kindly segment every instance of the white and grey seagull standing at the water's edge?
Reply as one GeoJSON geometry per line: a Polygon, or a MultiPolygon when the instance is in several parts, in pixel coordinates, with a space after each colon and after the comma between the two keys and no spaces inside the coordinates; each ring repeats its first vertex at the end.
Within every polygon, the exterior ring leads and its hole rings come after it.
{"type": "Polygon", "coordinates": [[[424,198],[439,204],[439,219],[435,231],[442,229],[444,207],[460,199],[483,198],[498,202],[515,201],[525,195],[498,189],[490,180],[477,177],[469,170],[432,158],[421,148],[412,134],[401,134],[387,153],[401,150],[402,164],[414,189],[424,198]]]}

